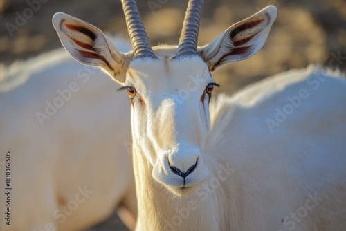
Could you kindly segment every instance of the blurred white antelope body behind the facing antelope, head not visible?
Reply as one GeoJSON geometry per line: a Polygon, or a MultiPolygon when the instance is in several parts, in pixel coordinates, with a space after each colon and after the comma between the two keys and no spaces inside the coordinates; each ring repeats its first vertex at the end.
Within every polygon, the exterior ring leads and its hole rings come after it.
{"type": "MultiPolygon", "coordinates": [[[[121,50],[130,47],[114,40],[121,50]]],[[[120,204],[136,215],[130,108],[115,83],[64,49],[0,73],[0,230],[81,230],[120,204]],[[12,156],[10,200],[6,151],[12,156]]]]}

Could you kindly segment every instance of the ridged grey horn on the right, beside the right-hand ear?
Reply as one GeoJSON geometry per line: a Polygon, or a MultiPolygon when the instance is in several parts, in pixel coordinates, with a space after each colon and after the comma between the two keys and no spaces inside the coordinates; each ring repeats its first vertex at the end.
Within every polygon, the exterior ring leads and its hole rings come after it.
{"type": "Polygon", "coordinates": [[[190,0],[185,13],[176,57],[197,55],[197,37],[203,0],[190,0]]]}

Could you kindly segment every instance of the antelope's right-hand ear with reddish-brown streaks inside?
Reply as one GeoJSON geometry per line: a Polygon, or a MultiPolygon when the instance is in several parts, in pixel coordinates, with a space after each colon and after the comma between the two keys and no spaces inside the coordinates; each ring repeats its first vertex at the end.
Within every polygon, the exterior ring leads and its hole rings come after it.
{"type": "Polygon", "coordinates": [[[277,17],[277,8],[268,6],[255,15],[230,26],[210,44],[198,49],[210,71],[221,64],[247,59],[257,53],[277,17]]]}

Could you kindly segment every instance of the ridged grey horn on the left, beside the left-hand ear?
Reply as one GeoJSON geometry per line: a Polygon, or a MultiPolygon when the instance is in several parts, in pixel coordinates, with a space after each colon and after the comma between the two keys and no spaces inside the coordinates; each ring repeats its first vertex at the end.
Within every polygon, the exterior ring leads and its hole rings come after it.
{"type": "Polygon", "coordinates": [[[157,59],[152,50],[152,46],[150,46],[147,33],[145,33],[145,28],[140,18],[136,1],[121,0],[121,4],[135,57],[151,57],[157,59]]]}

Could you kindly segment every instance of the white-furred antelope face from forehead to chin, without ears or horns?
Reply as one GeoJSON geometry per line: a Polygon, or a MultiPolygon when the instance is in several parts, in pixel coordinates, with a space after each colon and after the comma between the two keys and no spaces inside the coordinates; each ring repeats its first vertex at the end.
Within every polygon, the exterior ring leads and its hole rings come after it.
{"type": "Polygon", "coordinates": [[[154,179],[181,194],[186,190],[183,187],[197,185],[208,175],[203,165],[210,131],[206,86],[214,80],[198,56],[171,59],[134,59],[125,86],[136,89],[136,96],[130,99],[134,142],[152,165],[154,179]],[[170,167],[185,173],[196,163],[185,182],[170,167]]]}

